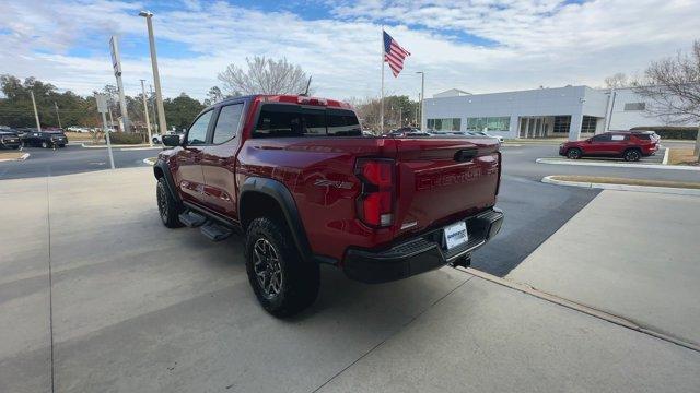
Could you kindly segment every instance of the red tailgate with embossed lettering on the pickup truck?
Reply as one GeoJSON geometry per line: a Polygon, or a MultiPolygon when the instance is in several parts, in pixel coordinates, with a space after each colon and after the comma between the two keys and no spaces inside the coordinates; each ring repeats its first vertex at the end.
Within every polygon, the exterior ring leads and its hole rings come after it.
{"type": "Polygon", "coordinates": [[[396,235],[446,225],[495,204],[493,139],[397,139],[396,235]]]}

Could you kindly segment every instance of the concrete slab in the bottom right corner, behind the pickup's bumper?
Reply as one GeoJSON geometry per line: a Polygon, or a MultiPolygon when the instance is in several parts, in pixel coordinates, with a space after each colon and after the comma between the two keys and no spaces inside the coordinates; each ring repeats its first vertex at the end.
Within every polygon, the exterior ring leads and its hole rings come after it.
{"type": "Polygon", "coordinates": [[[469,279],[322,392],[693,392],[700,354],[469,279]]]}

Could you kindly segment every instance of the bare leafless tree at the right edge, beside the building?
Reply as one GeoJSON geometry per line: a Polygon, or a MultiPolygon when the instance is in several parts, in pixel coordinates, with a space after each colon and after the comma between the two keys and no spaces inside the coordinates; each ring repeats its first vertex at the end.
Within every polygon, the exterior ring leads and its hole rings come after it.
{"type": "MultiPolygon", "coordinates": [[[[690,53],[678,51],[676,57],[652,62],[635,84],[635,92],[650,100],[650,114],[669,123],[700,122],[700,40],[692,44],[690,53]]],[[[700,130],[693,154],[700,157],[700,130]]]]}

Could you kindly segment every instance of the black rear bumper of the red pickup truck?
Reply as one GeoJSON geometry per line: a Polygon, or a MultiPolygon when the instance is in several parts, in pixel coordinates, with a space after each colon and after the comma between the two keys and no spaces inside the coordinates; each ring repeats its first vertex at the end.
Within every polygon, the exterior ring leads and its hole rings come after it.
{"type": "Polygon", "coordinates": [[[469,257],[493,238],[501,230],[503,212],[493,207],[465,221],[469,240],[452,250],[442,246],[443,228],[438,228],[382,251],[349,249],[343,271],[349,278],[377,284],[442,267],[459,258],[469,257]]]}

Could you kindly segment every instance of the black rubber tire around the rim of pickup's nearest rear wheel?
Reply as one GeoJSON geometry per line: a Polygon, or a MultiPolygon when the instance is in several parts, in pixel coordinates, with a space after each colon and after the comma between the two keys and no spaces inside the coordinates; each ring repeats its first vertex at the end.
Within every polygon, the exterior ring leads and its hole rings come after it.
{"type": "Polygon", "coordinates": [[[291,317],[310,307],[318,296],[319,269],[313,261],[304,261],[291,240],[284,224],[267,217],[255,218],[246,233],[245,257],[248,282],[262,308],[277,318],[291,317]],[[267,241],[277,254],[281,267],[279,293],[269,296],[255,272],[255,246],[267,241]]]}

